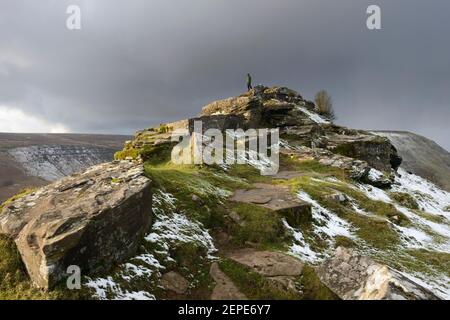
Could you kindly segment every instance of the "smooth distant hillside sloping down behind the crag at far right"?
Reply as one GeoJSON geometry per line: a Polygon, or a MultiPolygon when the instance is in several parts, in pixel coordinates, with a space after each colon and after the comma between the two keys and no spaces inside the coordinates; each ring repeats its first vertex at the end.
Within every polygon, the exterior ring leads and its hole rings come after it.
{"type": "Polygon", "coordinates": [[[436,142],[411,132],[377,131],[403,157],[402,167],[450,191],[450,153],[436,142]]]}

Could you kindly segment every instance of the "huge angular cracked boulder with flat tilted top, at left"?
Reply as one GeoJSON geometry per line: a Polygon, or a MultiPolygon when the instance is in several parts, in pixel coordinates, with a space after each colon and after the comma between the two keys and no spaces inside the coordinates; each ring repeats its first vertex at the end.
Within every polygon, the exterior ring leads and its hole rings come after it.
{"type": "Polygon", "coordinates": [[[95,273],[132,255],[150,227],[151,207],[143,165],[114,161],[10,203],[0,232],[15,240],[33,282],[48,289],[70,265],[95,273]]]}

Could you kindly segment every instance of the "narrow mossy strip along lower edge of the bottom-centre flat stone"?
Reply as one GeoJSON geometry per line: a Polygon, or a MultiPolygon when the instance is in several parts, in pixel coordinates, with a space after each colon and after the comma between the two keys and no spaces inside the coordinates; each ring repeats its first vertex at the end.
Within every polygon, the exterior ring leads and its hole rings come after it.
{"type": "Polygon", "coordinates": [[[298,292],[280,290],[260,274],[233,260],[222,259],[219,266],[249,299],[296,300],[301,298],[298,292]]]}

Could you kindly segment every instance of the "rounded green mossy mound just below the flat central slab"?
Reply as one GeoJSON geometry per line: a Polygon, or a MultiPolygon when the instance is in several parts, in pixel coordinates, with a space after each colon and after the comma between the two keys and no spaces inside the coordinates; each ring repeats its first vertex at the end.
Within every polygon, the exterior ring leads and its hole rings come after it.
{"type": "Polygon", "coordinates": [[[234,204],[230,211],[236,212],[243,224],[233,223],[229,226],[229,233],[236,245],[246,242],[258,244],[262,247],[282,246],[285,240],[285,230],[282,218],[273,211],[253,204],[234,204]]]}

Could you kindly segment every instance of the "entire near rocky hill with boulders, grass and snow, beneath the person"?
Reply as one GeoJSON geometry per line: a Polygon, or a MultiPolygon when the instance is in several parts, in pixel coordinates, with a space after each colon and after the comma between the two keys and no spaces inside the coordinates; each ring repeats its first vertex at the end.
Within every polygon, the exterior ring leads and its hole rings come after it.
{"type": "MultiPolygon", "coordinates": [[[[0,292],[32,282],[52,297],[78,265],[85,299],[448,299],[449,208],[450,194],[406,171],[388,138],[259,85],[3,203],[4,260],[27,274],[0,292]],[[176,164],[172,134],[196,121],[278,128],[279,171],[261,175],[266,159],[250,153],[240,164],[176,164]]],[[[2,268],[10,279],[14,268],[2,268]]]]}

